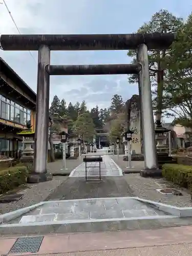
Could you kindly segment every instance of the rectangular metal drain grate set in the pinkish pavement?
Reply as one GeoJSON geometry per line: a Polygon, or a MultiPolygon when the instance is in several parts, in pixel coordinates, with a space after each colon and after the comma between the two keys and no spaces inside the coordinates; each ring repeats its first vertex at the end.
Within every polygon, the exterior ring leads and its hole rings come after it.
{"type": "Polygon", "coordinates": [[[17,238],[9,253],[38,252],[44,237],[17,238]]]}

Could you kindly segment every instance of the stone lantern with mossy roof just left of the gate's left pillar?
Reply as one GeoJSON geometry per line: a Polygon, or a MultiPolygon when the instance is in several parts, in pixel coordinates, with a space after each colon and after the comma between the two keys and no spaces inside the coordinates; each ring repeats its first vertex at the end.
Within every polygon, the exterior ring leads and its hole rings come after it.
{"type": "Polygon", "coordinates": [[[35,132],[31,129],[26,129],[20,133],[17,133],[20,136],[23,136],[23,151],[22,157],[20,158],[21,162],[33,162],[34,159],[34,150],[32,145],[34,145],[34,136],[35,132]]]}

